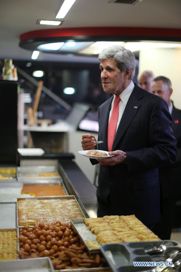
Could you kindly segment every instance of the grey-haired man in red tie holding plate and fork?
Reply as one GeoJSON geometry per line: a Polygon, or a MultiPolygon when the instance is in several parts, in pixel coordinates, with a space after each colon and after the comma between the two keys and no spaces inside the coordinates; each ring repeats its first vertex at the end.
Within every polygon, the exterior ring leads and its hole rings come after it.
{"type": "MultiPolygon", "coordinates": [[[[111,46],[99,60],[103,90],[113,94],[98,110],[99,149],[114,156],[91,161],[100,163],[97,216],[135,214],[151,228],[160,220],[158,167],[176,158],[171,115],[164,99],[132,82],[130,50],[111,46]]],[[[83,150],[96,149],[93,137],[82,135],[83,150]]]]}

